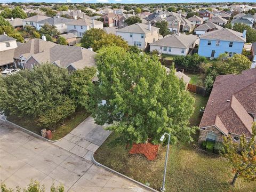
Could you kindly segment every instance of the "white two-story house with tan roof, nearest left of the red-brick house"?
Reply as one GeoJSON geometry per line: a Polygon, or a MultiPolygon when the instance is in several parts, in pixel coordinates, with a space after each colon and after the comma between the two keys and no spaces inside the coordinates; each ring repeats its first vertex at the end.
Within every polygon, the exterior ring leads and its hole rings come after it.
{"type": "Polygon", "coordinates": [[[103,23],[101,21],[91,19],[78,19],[66,25],[68,33],[73,33],[77,37],[83,37],[85,31],[92,28],[103,29],[103,23]]]}

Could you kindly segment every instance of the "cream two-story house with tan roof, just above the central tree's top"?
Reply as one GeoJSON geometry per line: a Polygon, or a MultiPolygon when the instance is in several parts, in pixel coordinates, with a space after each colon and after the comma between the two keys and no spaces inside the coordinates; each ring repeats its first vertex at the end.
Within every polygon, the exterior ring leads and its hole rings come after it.
{"type": "Polygon", "coordinates": [[[135,23],[117,30],[116,35],[121,36],[129,45],[145,49],[149,43],[158,40],[159,28],[153,27],[150,24],[135,23]]]}

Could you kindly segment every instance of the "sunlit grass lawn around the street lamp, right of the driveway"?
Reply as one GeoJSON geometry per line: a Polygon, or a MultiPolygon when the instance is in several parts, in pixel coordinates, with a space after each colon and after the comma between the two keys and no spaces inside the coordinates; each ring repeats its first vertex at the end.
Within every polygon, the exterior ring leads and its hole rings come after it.
{"type": "MultiPolygon", "coordinates": [[[[193,94],[196,99],[195,111],[190,119],[191,126],[200,122],[199,109],[206,105],[207,99],[193,94]]],[[[116,137],[112,133],[95,152],[94,158],[99,163],[110,167],[126,176],[156,190],[162,185],[166,147],[160,146],[154,161],[148,161],[140,154],[131,155],[126,145],[110,146],[116,137]]],[[[256,182],[245,183],[237,180],[236,187],[229,183],[233,173],[229,163],[218,155],[198,150],[192,144],[178,143],[170,147],[166,173],[166,191],[256,191],[256,182]]]]}

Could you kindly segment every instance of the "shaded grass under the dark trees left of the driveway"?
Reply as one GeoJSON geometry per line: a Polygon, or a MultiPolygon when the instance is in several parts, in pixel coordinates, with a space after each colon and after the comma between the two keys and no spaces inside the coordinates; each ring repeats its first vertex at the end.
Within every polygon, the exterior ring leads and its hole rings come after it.
{"type": "MultiPolygon", "coordinates": [[[[65,137],[65,135],[75,129],[75,127],[82,123],[89,115],[90,114],[85,110],[77,110],[73,115],[67,118],[64,124],[58,125],[55,132],[52,133],[52,140],[65,137]]],[[[21,118],[13,115],[7,117],[7,120],[39,135],[41,135],[40,130],[44,128],[38,125],[35,119],[31,118],[21,118]]]]}

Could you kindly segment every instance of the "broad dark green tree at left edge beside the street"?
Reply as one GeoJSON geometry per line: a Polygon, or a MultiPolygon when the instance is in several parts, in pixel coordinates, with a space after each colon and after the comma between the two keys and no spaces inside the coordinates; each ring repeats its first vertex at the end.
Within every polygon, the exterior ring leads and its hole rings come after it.
{"type": "Polygon", "coordinates": [[[54,130],[75,111],[69,86],[67,69],[50,63],[0,77],[0,111],[7,116],[34,118],[38,124],[54,130]]]}

